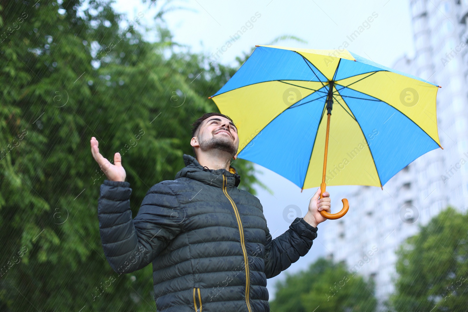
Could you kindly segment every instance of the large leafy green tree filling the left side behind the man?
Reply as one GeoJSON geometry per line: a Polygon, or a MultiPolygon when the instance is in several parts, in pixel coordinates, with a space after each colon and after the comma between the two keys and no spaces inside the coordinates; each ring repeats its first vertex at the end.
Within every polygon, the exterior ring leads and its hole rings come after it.
{"type": "MultiPolygon", "coordinates": [[[[207,97],[235,69],[176,53],[164,23],[146,42],[134,27],[144,14],[0,0],[0,311],[155,310],[151,265],[118,276],[105,260],[89,140],[122,154],[135,216],[184,167],[190,123],[217,110],[207,97]]],[[[253,192],[252,164],[234,167],[253,192]]]]}

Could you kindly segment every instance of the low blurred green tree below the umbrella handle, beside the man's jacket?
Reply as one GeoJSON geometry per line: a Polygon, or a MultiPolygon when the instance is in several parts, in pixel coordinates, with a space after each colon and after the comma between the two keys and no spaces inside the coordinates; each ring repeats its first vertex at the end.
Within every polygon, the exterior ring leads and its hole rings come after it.
{"type": "Polygon", "coordinates": [[[276,284],[274,312],[374,311],[372,279],[350,273],[344,262],[320,258],[307,271],[286,275],[276,284]]]}

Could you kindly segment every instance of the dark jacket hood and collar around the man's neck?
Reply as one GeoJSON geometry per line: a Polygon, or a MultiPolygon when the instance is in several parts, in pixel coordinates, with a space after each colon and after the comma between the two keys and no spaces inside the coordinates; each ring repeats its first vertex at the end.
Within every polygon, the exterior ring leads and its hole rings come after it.
{"type": "Polygon", "coordinates": [[[175,179],[178,178],[189,178],[203,182],[208,185],[216,186],[218,188],[223,187],[224,174],[227,178],[227,188],[237,187],[241,183],[241,176],[237,174],[237,170],[234,167],[229,167],[229,171],[226,169],[209,169],[200,165],[198,160],[190,155],[183,154],[183,167],[177,174],[175,179]]]}

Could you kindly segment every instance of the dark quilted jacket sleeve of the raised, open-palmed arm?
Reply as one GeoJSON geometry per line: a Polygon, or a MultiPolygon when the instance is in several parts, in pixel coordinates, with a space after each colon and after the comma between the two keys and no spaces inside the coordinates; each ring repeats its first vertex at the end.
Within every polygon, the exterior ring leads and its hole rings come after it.
{"type": "Polygon", "coordinates": [[[132,219],[129,182],[105,180],[98,202],[99,232],[110,267],[119,274],[144,268],[178,235],[183,221],[176,195],[158,183],[132,219]]]}

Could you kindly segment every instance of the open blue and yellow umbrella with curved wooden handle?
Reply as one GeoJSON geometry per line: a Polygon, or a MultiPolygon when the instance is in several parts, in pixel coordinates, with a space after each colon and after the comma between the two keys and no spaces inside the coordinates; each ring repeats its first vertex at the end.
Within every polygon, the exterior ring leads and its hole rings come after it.
{"type": "MultiPolygon", "coordinates": [[[[257,45],[210,98],[237,124],[238,157],[301,191],[320,185],[323,193],[327,184],[383,189],[410,162],[441,147],[438,89],[344,49],[257,45]]],[[[341,218],[349,207],[343,204],[336,214],[321,213],[341,218]]]]}

